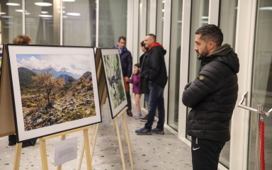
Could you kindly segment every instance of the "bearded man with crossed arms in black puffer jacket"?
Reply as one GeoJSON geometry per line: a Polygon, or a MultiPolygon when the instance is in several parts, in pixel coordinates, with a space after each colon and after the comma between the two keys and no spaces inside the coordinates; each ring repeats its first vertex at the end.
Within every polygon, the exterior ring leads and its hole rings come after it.
{"type": "Polygon", "coordinates": [[[219,156],[229,141],[229,121],[237,101],[239,59],[215,25],[196,30],[201,60],[196,79],[186,84],[182,102],[191,109],[187,133],[192,136],[193,170],[217,170],[219,156]],[[222,46],[221,46],[222,45],[222,46]]]}

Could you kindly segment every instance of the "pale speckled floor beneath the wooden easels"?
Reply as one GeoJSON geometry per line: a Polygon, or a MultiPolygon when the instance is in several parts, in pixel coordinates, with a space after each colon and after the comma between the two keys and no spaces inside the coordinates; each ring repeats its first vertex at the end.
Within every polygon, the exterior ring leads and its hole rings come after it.
{"type": "MultiPolygon", "coordinates": [[[[132,104],[133,105],[133,104],[132,104]]],[[[132,108],[136,113],[136,108],[132,108]]],[[[105,112],[106,113],[106,112],[105,112]]],[[[123,130],[119,121],[121,138],[123,130]]],[[[157,122],[154,122],[154,126],[157,122]]],[[[132,159],[134,169],[192,169],[191,149],[183,143],[176,135],[169,130],[164,130],[164,135],[136,135],[135,130],[144,127],[145,123],[140,120],[128,117],[128,127],[132,145],[132,159]]],[[[83,141],[83,132],[74,132],[67,135],[67,139],[77,137],[77,159],[62,164],[62,169],[76,170],[79,166],[79,158],[83,141]]],[[[60,141],[60,137],[46,140],[48,169],[57,169],[54,166],[55,142],[60,141]]],[[[126,169],[131,169],[128,145],[123,141],[123,152],[125,154],[126,169]]],[[[0,169],[13,169],[15,146],[8,146],[8,137],[0,137],[0,169]]],[[[42,169],[40,159],[40,145],[37,141],[34,147],[22,148],[20,169],[42,169]]],[[[84,157],[81,169],[86,169],[86,158],[84,157]]],[[[118,145],[118,137],[113,121],[109,123],[107,116],[103,118],[103,123],[99,125],[92,169],[123,169],[118,145]]]]}

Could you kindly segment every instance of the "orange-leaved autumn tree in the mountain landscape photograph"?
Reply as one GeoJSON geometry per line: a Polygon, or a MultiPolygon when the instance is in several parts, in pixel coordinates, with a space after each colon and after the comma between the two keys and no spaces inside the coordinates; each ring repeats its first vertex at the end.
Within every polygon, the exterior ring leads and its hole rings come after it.
{"type": "Polygon", "coordinates": [[[42,89],[45,89],[47,94],[47,107],[52,107],[52,102],[50,101],[52,91],[62,88],[65,84],[64,79],[54,79],[53,74],[50,73],[50,71],[51,69],[46,69],[45,72],[32,77],[34,86],[40,86],[42,89]]]}

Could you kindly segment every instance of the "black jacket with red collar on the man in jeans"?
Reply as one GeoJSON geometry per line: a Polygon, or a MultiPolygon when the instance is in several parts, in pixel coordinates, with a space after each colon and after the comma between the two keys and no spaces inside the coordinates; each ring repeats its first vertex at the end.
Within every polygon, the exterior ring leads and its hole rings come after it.
{"type": "Polygon", "coordinates": [[[168,79],[164,61],[166,50],[158,42],[155,43],[157,44],[145,52],[142,59],[140,94],[149,93],[149,82],[154,82],[164,88],[168,79]]]}

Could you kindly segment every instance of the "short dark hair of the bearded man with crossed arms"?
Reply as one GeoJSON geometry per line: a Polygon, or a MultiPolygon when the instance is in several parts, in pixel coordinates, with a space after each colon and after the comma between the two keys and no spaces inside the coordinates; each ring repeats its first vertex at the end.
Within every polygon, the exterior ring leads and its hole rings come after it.
{"type": "Polygon", "coordinates": [[[200,39],[205,40],[205,42],[213,41],[217,47],[222,45],[223,33],[219,27],[213,24],[198,28],[196,34],[200,34],[200,39]]]}

